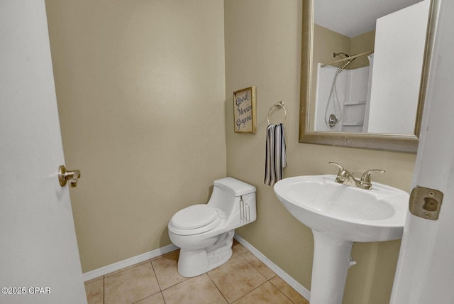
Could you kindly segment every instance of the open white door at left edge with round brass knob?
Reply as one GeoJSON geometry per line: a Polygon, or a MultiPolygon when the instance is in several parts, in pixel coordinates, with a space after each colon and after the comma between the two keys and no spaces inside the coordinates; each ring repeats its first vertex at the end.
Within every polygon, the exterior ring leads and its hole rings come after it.
{"type": "Polygon", "coordinates": [[[44,0],[0,1],[0,303],[87,303],[44,0]]]}

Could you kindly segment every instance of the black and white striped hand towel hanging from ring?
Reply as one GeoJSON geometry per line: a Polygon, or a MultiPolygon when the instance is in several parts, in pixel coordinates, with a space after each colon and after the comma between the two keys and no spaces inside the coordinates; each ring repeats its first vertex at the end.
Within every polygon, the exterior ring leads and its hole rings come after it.
{"type": "Polygon", "coordinates": [[[287,166],[283,124],[269,124],[265,161],[265,184],[275,185],[282,179],[282,168],[287,166]]]}

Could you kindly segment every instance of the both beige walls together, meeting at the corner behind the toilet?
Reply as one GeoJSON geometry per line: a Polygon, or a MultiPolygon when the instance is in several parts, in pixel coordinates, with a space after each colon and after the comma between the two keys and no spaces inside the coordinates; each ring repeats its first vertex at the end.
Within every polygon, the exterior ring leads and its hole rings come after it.
{"type": "MultiPolygon", "coordinates": [[[[82,170],[71,195],[84,272],[170,244],[172,214],[231,175],[258,188],[258,219],[238,233],[309,289],[311,231],[263,184],[266,117],[279,100],[285,176],[335,173],[336,161],[385,169],[375,180],[409,190],[414,155],[298,143],[301,0],[46,6],[66,163],[82,170]],[[250,85],[258,131],[235,134],[231,94],[250,85]]],[[[344,303],[387,303],[399,244],[354,245],[344,303]]]]}

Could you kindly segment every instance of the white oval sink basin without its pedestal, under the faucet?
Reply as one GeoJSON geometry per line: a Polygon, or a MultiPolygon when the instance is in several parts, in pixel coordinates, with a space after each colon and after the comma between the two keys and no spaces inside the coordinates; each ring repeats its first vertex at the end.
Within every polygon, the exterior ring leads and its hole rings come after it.
{"type": "Polygon", "coordinates": [[[285,208],[307,227],[349,241],[400,239],[409,194],[372,183],[372,190],[336,183],[335,175],[284,178],[275,193],[285,208]]]}

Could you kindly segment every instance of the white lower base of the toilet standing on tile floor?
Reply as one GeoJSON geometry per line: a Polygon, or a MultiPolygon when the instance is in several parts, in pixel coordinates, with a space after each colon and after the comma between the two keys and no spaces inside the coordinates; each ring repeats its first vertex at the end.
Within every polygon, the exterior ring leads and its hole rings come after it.
{"type": "Polygon", "coordinates": [[[223,233],[216,242],[202,249],[184,249],[179,251],[178,273],[190,278],[211,271],[231,258],[234,230],[223,233]]]}

